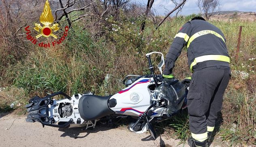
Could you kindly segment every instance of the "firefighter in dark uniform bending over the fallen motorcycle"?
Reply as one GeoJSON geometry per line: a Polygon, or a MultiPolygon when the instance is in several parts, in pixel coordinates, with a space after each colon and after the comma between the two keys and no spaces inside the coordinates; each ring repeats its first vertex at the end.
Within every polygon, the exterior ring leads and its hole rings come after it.
{"type": "Polygon", "coordinates": [[[194,17],[180,28],[166,55],[164,78],[173,78],[172,69],[184,46],[193,75],[187,95],[191,137],[190,147],[207,147],[231,71],[226,39],[216,26],[194,17]]]}

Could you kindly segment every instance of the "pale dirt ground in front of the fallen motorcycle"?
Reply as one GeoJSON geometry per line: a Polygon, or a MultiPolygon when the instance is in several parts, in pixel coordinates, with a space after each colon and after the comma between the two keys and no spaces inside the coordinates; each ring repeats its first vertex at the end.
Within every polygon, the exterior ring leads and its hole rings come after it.
{"type": "MultiPolygon", "coordinates": [[[[158,136],[154,141],[149,133],[135,134],[121,128],[98,126],[92,130],[83,128],[61,129],[42,127],[38,122],[28,123],[25,117],[0,115],[1,147],[176,147],[179,140],[158,136]]],[[[219,143],[215,143],[219,144],[219,143]]],[[[211,147],[225,147],[214,145],[211,147]]],[[[177,147],[189,147],[187,144],[177,147]]]]}

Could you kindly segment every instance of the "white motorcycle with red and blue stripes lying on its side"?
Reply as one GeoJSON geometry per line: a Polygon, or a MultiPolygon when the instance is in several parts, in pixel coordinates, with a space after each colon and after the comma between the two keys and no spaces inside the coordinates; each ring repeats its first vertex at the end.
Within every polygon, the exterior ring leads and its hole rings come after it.
{"type": "Polygon", "coordinates": [[[150,58],[152,54],[161,55],[158,69],[162,75],[163,54],[150,52],[146,57],[151,74],[126,76],[123,80],[126,88],[116,94],[102,97],[85,92],[69,97],[63,92],[56,92],[43,98],[36,96],[26,105],[26,121],[40,122],[43,127],[83,126],[87,129],[94,128],[98,121],[130,116],[137,119],[135,123],[129,124],[132,132],[143,133],[149,130],[152,138],[156,139],[152,123],[169,119],[187,107],[188,86],[175,78],[164,81],[161,75],[155,75],[150,58]],[[53,99],[57,95],[65,99],[53,99]]]}

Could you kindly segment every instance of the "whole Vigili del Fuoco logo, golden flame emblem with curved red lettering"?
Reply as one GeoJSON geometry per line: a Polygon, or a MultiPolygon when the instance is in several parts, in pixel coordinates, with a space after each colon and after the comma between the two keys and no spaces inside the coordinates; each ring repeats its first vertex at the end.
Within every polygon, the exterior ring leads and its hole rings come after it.
{"type": "Polygon", "coordinates": [[[27,31],[27,39],[30,40],[30,42],[32,42],[33,44],[38,44],[38,46],[40,47],[50,47],[50,46],[55,46],[57,44],[60,44],[62,41],[64,41],[66,38],[66,36],[68,35],[68,29],[69,27],[66,26],[65,30],[64,30],[64,34],[63,36],[57,40],[57,41],[53,41],[53,42],[48,42],[48,43],[43,43],[43,42],[38,42],[38,38],[40,37],[50,37],[52,36],[55,39],[58,39],[58,36],[56,36],[54,34],[54,32],[58,31],[60,29],[59,24],[55,23],[52,25],[54,19],[53,19],[53,15],[51,14],[51,8],[50,8],[50,4],[48,2],[48,0],[46,0],[45,2],[45,6],[43,9],[43,13],[41,14],[39,21],[43,24],[43,26],[41,26],[40,23],[35,23],[35,27],[34,29],[39,33],[36,37],[33,37],[30,35],[31,31],[30,31],[30,26],[27,26],[25,28],[25,30],[27,31]]]}

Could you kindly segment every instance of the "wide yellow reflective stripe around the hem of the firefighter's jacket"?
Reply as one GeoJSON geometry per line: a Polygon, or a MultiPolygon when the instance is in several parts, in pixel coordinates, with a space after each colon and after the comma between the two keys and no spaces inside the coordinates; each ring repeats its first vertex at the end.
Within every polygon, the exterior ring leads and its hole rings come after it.
{"type": "Polygon", "coordinates": [[[223,56],[223,55],[205,55],[205,56],[201,56],[201,57],[196,57],[194,59],[194,61],[190,65],[190,71],[193,72],[193,66],[196,65],[196,63],[203,62],[203,61],[210,61],[210,60],[224,61],[224,62],[230,63],[230,59],[227,56],[223,56]]]}

